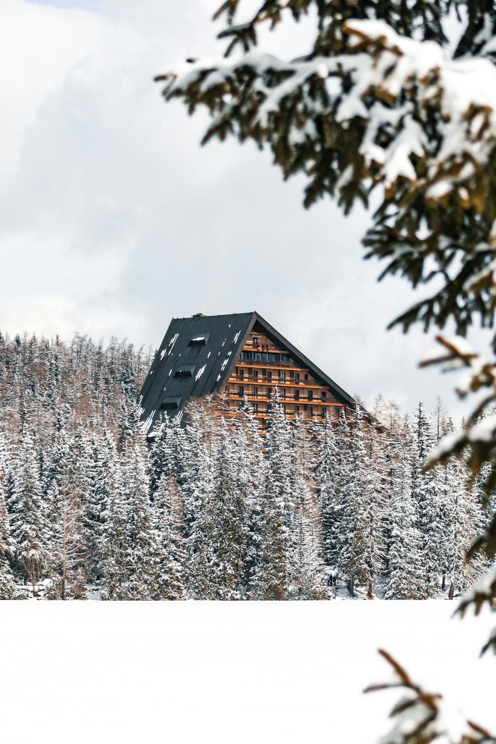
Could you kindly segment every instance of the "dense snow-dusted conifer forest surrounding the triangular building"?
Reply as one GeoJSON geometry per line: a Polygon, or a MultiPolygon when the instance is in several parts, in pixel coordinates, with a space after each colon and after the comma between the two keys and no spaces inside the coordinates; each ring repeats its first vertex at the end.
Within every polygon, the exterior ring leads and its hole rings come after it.
{"type": "Polygon", "coordinates": [[[259,434],[245,400],[189,405],[142,433],[152,350],[0,335],[0,598],[331,600],[456,597],[492,514],[484,473],[428,452],[442,404],[376,400],[352,420],[259,434]]]}

